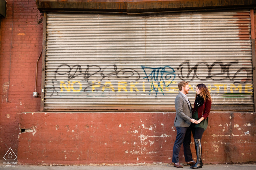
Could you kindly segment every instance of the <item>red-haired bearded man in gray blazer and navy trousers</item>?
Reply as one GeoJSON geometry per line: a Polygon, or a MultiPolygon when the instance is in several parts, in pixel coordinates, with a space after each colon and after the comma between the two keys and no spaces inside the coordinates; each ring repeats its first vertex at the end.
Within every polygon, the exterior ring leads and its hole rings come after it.
{"type": "Polygon", "coordinates": [[[180,90],[180,93],[175,98],[176,117],[174,119],[174,126],[176,127],[177,136],[173,146],[172,162],[174,162],[174,167],[183,168],[183,166],[180,165],[178,158],[182,143],[184,147],[184,156],[185,161],[187,162],[187,166],[195,164],[189,146],[191,142],[191,128],[189,126],[191,122],[195,122],[195,119],[191,119],[192,106],[187,96],[189,91],[188,82],[182,81],[178,83],[178,88],[180,90]]]}

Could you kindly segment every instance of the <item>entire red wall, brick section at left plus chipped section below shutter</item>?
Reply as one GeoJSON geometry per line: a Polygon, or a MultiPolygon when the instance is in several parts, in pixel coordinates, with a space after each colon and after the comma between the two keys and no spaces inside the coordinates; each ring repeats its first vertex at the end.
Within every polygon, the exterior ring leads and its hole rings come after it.
{"type": "MultiPolygon", "coordinates": [[[[174,113],[37,112],[40,99],[32,94],[36,61],[42,49],[41,15],[35,0],[7,0],[7,16],[0,31],[0,159],[11,147],[20,163],[171,162],[174,113]],[[19,123],[22,129],[32,128],[32,132],[19,136],[19,123]],[[150,137],[145,139],[147,135],[150,137]]],[[[41,89],[41,65],[40,59],[37,91],[41,89]]],[[[212,113],[203,138],[204,161],[256,161],[255,122],[251,113],[212,113]],[[250,135],[241,136],[247,130],[250,135]]]]}

